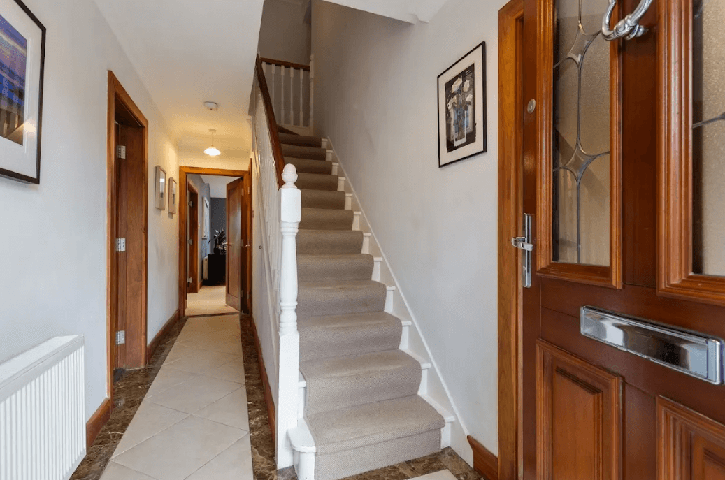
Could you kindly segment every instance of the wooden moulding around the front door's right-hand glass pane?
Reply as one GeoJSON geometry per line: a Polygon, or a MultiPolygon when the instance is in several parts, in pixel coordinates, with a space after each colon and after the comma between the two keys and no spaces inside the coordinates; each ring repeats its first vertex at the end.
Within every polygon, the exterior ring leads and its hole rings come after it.
{"type": "Polygon", "coordinates": [[[693,270],[692,2],[659,2],[658,294],[725,305],[725,278],[693,270]]]}

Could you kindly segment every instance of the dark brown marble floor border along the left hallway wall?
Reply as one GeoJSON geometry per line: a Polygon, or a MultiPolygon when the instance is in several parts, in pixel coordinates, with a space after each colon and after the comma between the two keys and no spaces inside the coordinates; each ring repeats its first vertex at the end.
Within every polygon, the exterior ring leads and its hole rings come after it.
{"type": "Polygon", "coordinates": [[[96,440],[86,452],[86,457],[75,469],[70,480],[98,480],[106,468],[111,455],[116,450],[121,436],[128,429],[138,406],[144,400],[154,378],[161,370],[174,342],[186,325],[186,317],[181,318],[170,328],[159,343],[149,364],[144,368],[126,371],[113,387],[113,411],[111,418],[103,426],[96,440]]]}

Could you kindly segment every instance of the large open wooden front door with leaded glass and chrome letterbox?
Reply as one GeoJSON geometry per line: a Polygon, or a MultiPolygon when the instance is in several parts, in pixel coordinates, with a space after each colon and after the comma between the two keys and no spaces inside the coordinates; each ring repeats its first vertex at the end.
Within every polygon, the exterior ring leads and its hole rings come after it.
{"type": "Polygon", "coordinates": [[[607,6],[524,3],[519,474],[721,479],[725,2],[659,0],[642,36],[616,41],[607,6]],[[624,323],[589,329],[582,307],[624,323]],[[701,337],[710,350],[675,342],[701,337]]]}

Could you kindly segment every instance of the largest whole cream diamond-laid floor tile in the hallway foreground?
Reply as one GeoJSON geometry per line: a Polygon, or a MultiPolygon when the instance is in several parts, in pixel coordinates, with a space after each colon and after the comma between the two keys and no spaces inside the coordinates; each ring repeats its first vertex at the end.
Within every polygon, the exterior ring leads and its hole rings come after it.
{"type": "Polygon", "coordinates": [[[190,416],[115,461],[157,480],[183,480],[244,435],[243,430],[190,416]]]}

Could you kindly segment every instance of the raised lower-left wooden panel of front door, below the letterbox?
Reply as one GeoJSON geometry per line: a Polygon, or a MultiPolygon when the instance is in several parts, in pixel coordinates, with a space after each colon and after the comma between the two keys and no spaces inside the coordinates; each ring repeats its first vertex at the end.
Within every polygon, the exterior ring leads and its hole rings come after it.
{"type": "Polygon", "coordinates": [[[537,479],[619,478],[621,378],[537,341],[537,479]]]}

